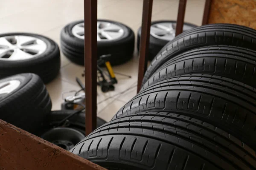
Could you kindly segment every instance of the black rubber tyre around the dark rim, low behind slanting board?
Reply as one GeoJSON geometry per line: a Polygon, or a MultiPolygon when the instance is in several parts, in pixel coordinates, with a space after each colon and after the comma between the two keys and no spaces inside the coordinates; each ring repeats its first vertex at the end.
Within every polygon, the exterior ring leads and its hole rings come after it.
{"type": "MultiPolygon", "coordinates": [[[[44,120],[44,122],[41,124],[40,130],[38,130],[38,132],[36,132],[35,134],[37,136],[41,136],[44,132],[58,125],[61,122],[61,120],[65,119],[67,116],[69,116],[72,113],[74,113],[74,111],[70,111],[70,110],[52,111],[44,120]]],[[[105,123],[106,123],[105,120],[97,117],[97,127],[100,127],[105,123]]],[[[85,113],[81,112],[79,114],[72,116],[69,119],[68,125],[65,127],[79,130],[81,133],[85,135],[85,113]]]]}

